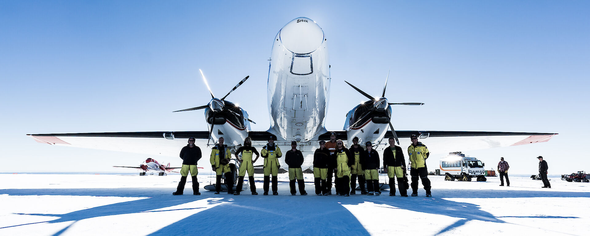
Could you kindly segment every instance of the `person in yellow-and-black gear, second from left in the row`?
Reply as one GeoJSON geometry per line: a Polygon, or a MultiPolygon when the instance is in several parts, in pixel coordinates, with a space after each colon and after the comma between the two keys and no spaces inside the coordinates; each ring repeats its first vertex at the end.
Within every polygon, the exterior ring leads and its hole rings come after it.
{"type": "Polygon", "coordinates": [[[227,193],[234,194],[234,178],[231,176],[230,169],[231,152],[227,145],[223,144],[223,137],[219,137],[219,142],[211,149],[211,167],[217,175],[215,180],[215,194],[221,191],[221,178],[225,173],[225,184],[227,185],[227,193]]]}

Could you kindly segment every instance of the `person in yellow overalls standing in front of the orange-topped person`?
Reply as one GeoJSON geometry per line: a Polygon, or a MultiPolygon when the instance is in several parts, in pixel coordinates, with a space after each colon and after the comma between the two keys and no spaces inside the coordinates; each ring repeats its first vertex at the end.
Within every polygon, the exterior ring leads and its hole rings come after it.
{"type": "Polygon", "coordinates": [[[350,151],[344,147],[344,142],[342,140],[336,141],[336,152],[332,155],[332,162],[336,168],[334,171],[336,172],[336,186],[337,189],[340,190],[340,196],[350,196],[350,166],[355,161],[350,151]]]}

